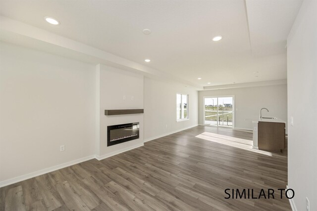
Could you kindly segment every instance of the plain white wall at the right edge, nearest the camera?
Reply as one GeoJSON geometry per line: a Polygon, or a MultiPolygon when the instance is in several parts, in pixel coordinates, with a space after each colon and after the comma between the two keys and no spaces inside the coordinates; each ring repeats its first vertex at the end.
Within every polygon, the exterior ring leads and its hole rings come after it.
{"type": "Polygon", "coordinates": [[[298,211],[317,210],[317,1],[304,0],[287,39],[288,186],[298,211]],[[304,107],[306,106],[306,109],[304,107]]]}

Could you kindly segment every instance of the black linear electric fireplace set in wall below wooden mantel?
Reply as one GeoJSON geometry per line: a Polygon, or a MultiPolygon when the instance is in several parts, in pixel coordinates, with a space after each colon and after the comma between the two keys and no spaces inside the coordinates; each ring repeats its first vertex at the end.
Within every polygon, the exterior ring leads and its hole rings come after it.
{"type": "Polygon", "coordinates": [[[107,127],[107,146],[112,146],[140,137],[139,123],[128,123],[107,127]]]}

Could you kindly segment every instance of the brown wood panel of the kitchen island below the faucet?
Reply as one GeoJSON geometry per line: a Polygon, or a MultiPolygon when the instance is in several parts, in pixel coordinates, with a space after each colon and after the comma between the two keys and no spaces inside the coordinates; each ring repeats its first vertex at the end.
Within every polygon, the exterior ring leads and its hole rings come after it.
{"type": "Polygon", "coordinates": [[[260,150],[281,152],[285,148],[285,123],[258,123],[258,146],[260,150]]]}

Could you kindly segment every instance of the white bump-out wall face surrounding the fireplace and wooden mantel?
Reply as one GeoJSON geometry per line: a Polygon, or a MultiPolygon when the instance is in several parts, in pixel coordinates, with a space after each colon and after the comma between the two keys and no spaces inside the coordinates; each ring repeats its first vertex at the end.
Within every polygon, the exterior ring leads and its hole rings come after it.
{"type": "Polygon", "coordinates": [[[96,78],[100,82],[97,91],[100,94],[100,120],[97,120],[100,121],[100,138],[96,154],[107,157],[113,152],[143,144],[143,114],[105,116],[106,109],[143,109],[143,75],[105,65],[97,65],[96,68],[96,78]],[[107,126],[135,122],[140,123],[140,138],[107,147],[107,126]]]}

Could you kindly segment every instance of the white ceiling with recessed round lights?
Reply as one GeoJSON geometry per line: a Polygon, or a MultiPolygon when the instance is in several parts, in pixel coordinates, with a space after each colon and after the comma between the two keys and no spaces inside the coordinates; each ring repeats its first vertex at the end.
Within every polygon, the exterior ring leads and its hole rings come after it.
{"type": "Polygon", "coordinates": [[[286,38],[301,2],[1,0],[0,13],[209,86],[285,79],[286,38]],[[61,24],[50,25],[44,16],[61,24]],[[144,35],[145,28],[152,33],[144,35]],[[212,42],[216,35],[223,39],[212,42]],[[146,58],[151,62],[144,62],[146,58]]]}

